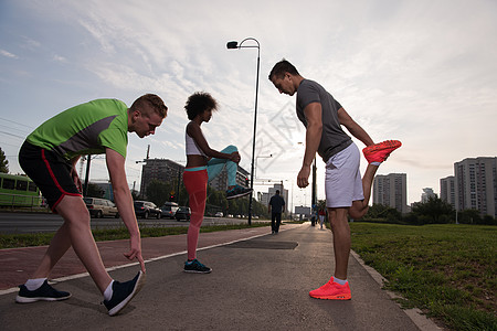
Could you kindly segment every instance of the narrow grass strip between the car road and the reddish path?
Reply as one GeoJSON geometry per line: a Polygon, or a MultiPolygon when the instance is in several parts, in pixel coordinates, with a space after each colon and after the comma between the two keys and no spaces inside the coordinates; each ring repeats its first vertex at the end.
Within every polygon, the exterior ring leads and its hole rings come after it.
{"type": "MultiPolygon", "coordinates": [[[[200,228],[201,233],[226,231],[226,229],[241,229],[248,227],[268,226],[271,223],[255,222],[251,226],[247,224],[234,224],[234,225],[211,225],[200,228]]],[[[188,226],[171,226],[171,227],[150,227],[140,226],[140,234],[142,238],[146,237],[163,237],[170,235],[186,234],[188,226]]],[[[118,241],[128,239],[129,233],[126,227],[119,226],[116,228],[107,229],[93,229],[92,231],[95,242],[105,241],[118,241]]],[[[54,233],[39,233],[39,234],[0,234],[0,249],[1,248],[17,248],[29,246],[43,246],[49,245],[54,233]]]]}

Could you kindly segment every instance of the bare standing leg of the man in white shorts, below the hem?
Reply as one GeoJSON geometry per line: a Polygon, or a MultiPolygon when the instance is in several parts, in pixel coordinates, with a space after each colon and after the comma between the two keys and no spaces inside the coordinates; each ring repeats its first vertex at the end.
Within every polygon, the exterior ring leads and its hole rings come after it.
{"type": "Polygon", "coordinates": [[[347,209],[328,209],[329,222],[334,234],[335,277],[347,279],[350,254],[350,227],[347,209]]]}

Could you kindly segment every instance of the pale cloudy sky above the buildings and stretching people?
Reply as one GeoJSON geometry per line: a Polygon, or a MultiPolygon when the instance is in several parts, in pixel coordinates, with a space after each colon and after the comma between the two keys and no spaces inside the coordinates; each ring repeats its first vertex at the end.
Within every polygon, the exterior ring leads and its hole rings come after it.
{"type": "MultiPolygon", "coordinates": [[[[258,41],[261,58],[256,191],[283,181],[290,205],[310,205],[310,189],[296,185],[305,128],[295,96],[267,79],[282,58],[325,86],[376,142],[402,141],[378,174],[406,173],[408,203],[423,188],[438,193],[454,162],[497,154],[494,0],[1,0],[0,148],[10,172],[22,172],[24,138],[57,113],[97,98],[130,106],[155,93],[169,108],[162,126],[145,139],[129,135],[126,171],[138,189],[148,146],[150,158],[186,163],[183,107],[198,90],[220,104],[202,125],[210,146],[237,146],[250,170],[257,49],[226,49],[246,38],[258,41]]],[[[318,157],[318,199],[324,166],[318,157]]],[[[91,180],[107,179],[104,158],[92,160],[91,180]]]]}

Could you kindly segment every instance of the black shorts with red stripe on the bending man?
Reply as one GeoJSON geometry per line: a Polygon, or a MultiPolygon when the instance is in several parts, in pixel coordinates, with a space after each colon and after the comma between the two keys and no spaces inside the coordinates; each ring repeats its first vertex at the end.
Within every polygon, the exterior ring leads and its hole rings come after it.
{"type": "Polygon", "coordinates": [[[82,196],[71,178],[71,161],[60,154],[24,141],[19,164],[36,184],[52,211],[65,195],[82,196]]]}

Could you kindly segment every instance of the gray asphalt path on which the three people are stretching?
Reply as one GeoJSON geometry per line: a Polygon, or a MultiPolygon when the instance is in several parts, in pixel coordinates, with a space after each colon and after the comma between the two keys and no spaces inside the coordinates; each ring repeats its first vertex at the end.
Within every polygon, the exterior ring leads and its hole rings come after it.
{"type": "MultiPolygon", "coordinates": [[[[285,225],[276,236],[265,235],[268,229],[202,234],[201,246],[211,247],[200,250],[198,256],[213,268],[209,275],[182,273],[184,235],[144,242],[146,256],[157,257],[147,261],[147,285],[117,317],[108,317],[105,307],[98,303],[102,297],[92,279],[78,277],[60,279],[56,287],[73,293],[71,299],[60,302],[19,305],[14,303],[15,292],[7,291],[0,296],[0,325],[2,330],[409,331],[420,330],[420,325],[422,330],[436,329],[431,323],[414,323],[352,256],[349,264],[352,300],[309,298],[308,291],[330,276],[331,233],[309,224],[285,225]],[[253,238],[235,242],[243,234],[253,238]],[[179,242],[183,242],[181,248],[171,253],[179,242]],[[221,245],[226,242],[231,244],[221,245]]],[[[125,243],[107,242],[99,246],[106,266],[108,256],[115,255],[115,250],[120,254],[125,243]]],[[[17,264],[15,259],[11,263],[17,264]]],[[[126,280],[137,270],[134,265],[110,274],[126,280]]]]}

